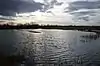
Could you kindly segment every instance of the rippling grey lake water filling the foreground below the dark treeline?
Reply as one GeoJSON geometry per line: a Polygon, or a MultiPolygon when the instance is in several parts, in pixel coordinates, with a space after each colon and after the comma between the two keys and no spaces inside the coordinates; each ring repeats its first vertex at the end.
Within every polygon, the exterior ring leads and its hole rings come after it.
{"type": "Polygon", "coordinates": [[[100,66],[99,34],[30,30],[0,30],[0,66],[100,66]]]}

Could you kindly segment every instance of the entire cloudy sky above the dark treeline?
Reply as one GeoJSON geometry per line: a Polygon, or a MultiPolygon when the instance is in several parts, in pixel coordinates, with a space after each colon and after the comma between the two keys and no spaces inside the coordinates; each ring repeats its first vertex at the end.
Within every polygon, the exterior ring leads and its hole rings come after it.
{"type": "Polygon", "coordinates": [[[0,22],[100,24],[99,0],[0,0],[0,22]]]}

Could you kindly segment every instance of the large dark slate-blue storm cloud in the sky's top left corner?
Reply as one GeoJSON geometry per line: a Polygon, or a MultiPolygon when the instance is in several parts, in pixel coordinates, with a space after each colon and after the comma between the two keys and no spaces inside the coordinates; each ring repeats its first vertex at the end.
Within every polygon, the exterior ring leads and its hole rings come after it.
{"type": "Polygon", "coordinates": [[[0,0],[0,15],[15,16],[16,13],[34,12],[42,9],[41,3],[21,0],[0,0]]]}

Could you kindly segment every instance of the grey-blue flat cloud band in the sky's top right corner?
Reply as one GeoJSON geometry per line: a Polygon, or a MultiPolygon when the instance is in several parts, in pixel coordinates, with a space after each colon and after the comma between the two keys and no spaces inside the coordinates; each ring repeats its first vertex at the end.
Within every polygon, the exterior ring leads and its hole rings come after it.
{"type": "Polygon", "coordinates": [[[79,9],[99,9],[100,1],[75,1],[69,4],[69,11],[75,11],[79,9]]]}

